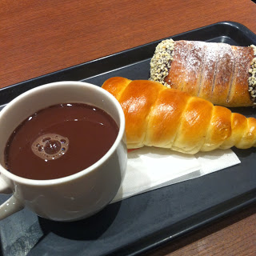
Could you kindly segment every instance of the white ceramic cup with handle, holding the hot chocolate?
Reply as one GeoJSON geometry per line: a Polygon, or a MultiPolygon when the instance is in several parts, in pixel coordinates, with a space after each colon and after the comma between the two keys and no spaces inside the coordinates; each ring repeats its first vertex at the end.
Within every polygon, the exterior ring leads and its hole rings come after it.
{"type": "Polygon", "coordinates": [[[125,117],[113,95],[86,82],[54,82],[21,94],[0,111],[0,193],[13,195],[0,206],[0,219],[23,207],[42,218],[74,221],[102,210],[117,194],[126,171],[125,117]],[[31,114],[58,103],[82,102],[110,114],[119,127],[110,150],[94,165],[64,178],[33,180],[5,169],[4,150],[14,129],[31,114]]]}

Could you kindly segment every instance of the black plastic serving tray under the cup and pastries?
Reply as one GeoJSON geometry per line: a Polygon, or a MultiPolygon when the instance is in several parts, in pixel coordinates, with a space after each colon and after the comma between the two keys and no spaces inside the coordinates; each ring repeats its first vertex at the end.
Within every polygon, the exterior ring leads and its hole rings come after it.
{"type": "MultiPolygon", "coordinates": [[[[235,22],[220,22],[171,38],[256,44],[256,35],[235,22]]],[[[148,79],[158,42],[3,88],[0,106],[48,82],[82,80],[101,86],[113,76],[148,79]]],[[[256,116],[252,108],[233,110],[256,116]]],[[[256,202],[255,149],[234,152],[241,160],[237,166],[116,202],[83,221],[51,222],[22,210],[0,222],[2,254],[135,255],[161,246],[256,202]]],[[[9,196],[0,195],[0,203],[6,198],[9,196]]]]}

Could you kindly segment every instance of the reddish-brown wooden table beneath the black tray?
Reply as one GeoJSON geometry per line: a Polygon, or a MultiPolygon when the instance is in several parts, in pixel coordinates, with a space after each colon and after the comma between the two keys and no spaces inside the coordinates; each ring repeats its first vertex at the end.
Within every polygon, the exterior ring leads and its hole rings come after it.
{"type": "MultiPolygon", "coordinates": [[[[0,87],[214,22],[256,33],[250,0],[0,2],[0,87]]],[[[148,255],[256,255],[256,206],[148,255]]]]}

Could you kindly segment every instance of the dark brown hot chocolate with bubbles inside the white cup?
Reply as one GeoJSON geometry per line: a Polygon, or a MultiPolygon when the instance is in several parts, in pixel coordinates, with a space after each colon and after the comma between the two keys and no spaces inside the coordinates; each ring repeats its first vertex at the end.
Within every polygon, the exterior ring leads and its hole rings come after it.
{"type": "Polygon", "coordinates": [[[14,130],[6,144],[6,168],[23,178],[66,177],[102,158],[117,136],[114,119],[95,106],[50,106],[14,130]]]}

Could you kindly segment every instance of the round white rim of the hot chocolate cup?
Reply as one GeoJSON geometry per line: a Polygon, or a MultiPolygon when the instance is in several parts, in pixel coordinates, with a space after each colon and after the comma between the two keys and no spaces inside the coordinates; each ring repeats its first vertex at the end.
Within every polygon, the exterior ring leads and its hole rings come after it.
{"type": "Polygon", "coordinates": [[[6,176],[7,178],[10,178],[10,180],[14,181],[14,182],[18,182],[18,183],[23,183],[26,185],[30,185],[30,186],[50,186],[53,184],[60,184],[60,183],[65,183],[65,182],[70,182],[71,180],[75,180],[77,178],[82,177],[83,175],[89,174],[90,172],[92,172],[93,170],[96,170],[99,166],[102,166],[102,164],[104,162],[106,162],[106,160],[108,158],[110,158],[110,156],[112,154],[114,154],[114,150],[116,150],[118,148],[119,143],[122,141],[123,135],[125,134],[125,115],[124,112],[122,110],[122,106],[120,105],[120,103],[118,102],[118,100],[116,98],[114,98],[114,96],[112,94],[110,94],[108,91],[104,90],[102,87],[100,86],[96,86],[94,84],[91,84],[89,82],[78,82],[78,81],[61,81],[61,82],[50,82],[47,84],[43,84],[42,86],[37,86],[35,88],[32,88],[30,90],[27,90],[26,92],[18,95],[16,98],[14,98],[12,101],[10,101],[1,111],[0,111],[0,118],[2,116],[2,114],[4,114],[7,110],[10,109],[10,107],[18,102],[21,98],[26,97],[27,94],[31,94],[34,91],[37,90],[44,90],[46,87],[50,87],[50,86],[64,86],[64,85],[78,85],[78,86],[86,86],[86,87],[90,87],[94,90],[98,90],[98,92],[105,94],[105,96],[107,98],[110,98],[110,100],[112,102],[114,102],[114,106],[117,108],[118,110],[118,116],[120,118],[120,126],[119,126],[119,130],[118,130],[118,136],[115,139],[113,145],[110,147],[110,149],[106,152],[106,154],[104,154],[104,156],[102,158],[100,158],[97,162],[94,162],[93,165],[87,167],[84,170],[79,171],[78,173],[75,174],[71,174],[69,176],[66,177],[62,177],[62,178],[54,178],[54,179],[46,179],[46,180],[37,180],[37,179],[30,179],[30,178],[22,178],[16,174],[12,174],[10,173],[9,170],[6,170],[6,168],[4,168],[4,166],[2,166],[2,164],[0,163],[0,175],[4,174],[4,176],[6,176]]]}

